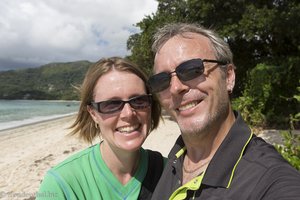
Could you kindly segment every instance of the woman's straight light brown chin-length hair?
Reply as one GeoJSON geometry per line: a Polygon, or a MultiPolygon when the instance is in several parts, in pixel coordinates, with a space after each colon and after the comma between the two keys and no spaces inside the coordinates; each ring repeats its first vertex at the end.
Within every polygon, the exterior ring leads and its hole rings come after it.
{"type": "MultiPolygon", "coordinates": [[[[101,132],[90,116],[87,107],[93,101],[93,92],[98,79],[111,71],[112,69],[118,71],[126,71],[137,75],[145,84],[146,92],[149,94],[150,90],[147,86],[147,76],[145,73],[130,61],[120,58],[111,57],[103,58],[93,64],[87,71],[83,84],[80,87],[80,107],[75,122],[70,128],[73,128],[71,135],[78,134],[85,141],[92,143],[96,136],[100,136],[101,132]]],[[[161,107],[155,95],[152,96],[151,105],[151,128],[150,131],[157,128],[159,119],[161,118],[161,107]]]]}

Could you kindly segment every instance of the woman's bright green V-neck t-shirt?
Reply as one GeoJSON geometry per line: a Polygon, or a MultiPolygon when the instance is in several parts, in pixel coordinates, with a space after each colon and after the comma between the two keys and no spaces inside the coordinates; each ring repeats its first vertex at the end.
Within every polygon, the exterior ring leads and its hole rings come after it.
{"type": "Polygon", "coordinates": [[[50,169],[36,199],[137,199],[148,170],[148,152],[141,148],[139,167],[131,180],[123,185],[106,166],[99,145],[50,169]]]}

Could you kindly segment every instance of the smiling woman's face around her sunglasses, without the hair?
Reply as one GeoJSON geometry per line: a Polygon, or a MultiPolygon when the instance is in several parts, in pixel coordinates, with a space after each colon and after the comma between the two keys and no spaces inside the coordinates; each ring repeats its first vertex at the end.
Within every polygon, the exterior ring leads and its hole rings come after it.
{"type": "MultiPolygon", "coordinates": [[[[94,102],[126,101],[144,94],[145,84],[137,75],[112,70],[98,79],[94,88],[94,102]]],[[[89,112],[99,125],[104,142],[114,150],[136,151],[148,135],[151,106],[134,109],[126,103],[121,111],[112,114],[99,113],[95,109],[89,109],[89,112]]]]}

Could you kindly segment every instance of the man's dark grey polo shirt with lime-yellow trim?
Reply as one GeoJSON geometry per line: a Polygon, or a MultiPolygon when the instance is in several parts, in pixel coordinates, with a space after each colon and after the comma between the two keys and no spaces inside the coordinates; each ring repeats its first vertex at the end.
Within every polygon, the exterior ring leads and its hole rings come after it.
{"type": "Polygon", "coordinates": [[[179,136],[152,199],[297,199],[300,172],[250,128],[235,112],[236,121],[213,156],[204,175],[184,186],[182,164],[185,147],[179,136]],[[186,187],[185,187],[186,186],[186,187]],[[180,189],[178,189],[180,188],[180,189]]]}

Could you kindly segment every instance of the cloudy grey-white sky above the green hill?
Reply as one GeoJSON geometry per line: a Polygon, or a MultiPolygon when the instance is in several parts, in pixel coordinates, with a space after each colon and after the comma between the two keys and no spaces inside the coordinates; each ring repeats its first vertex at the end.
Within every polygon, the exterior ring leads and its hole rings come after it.
{"type": "Polygon", "coordinates": [[[0,71],[125,56],[155,0],[0,0],[0,71]]]}

